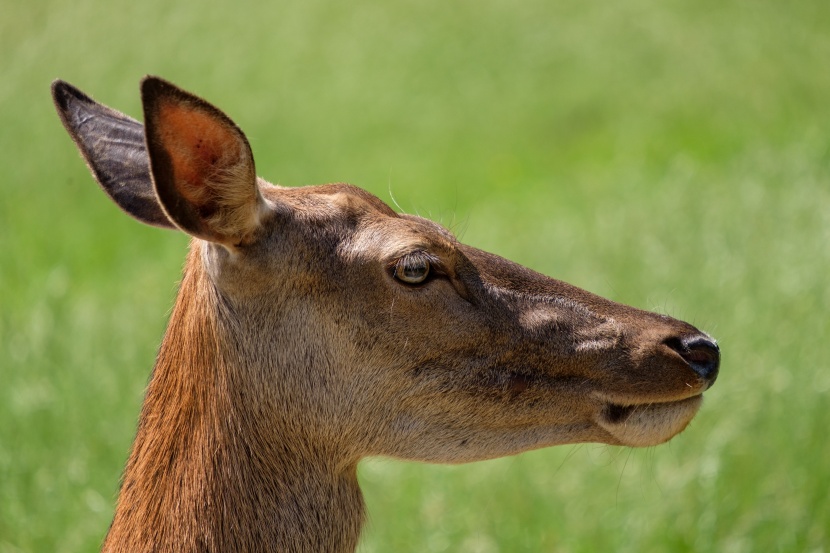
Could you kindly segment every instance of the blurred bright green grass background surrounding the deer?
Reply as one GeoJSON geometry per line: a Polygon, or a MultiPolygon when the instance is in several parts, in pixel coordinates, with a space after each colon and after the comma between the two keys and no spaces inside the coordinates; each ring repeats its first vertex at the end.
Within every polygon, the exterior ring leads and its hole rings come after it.
{"type": "Polygon", "coordinates": [[[186,238],[97,189],[61,77],[164,76],[285,185],[347,181],[713,333],[668,445],[361,465],[361,551],[830,551],[830,2],[0,0],[0,552],[112,516],[186,238]]]}

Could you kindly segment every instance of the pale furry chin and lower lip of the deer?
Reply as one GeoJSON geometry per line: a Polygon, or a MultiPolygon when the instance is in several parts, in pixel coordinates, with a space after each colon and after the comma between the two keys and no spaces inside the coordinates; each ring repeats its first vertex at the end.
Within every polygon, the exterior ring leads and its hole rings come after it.
{"type": "Polygon", "coordinates": [[[606,401],[597,417],[597,424],[616,439],[619,445],[658,445],[682,432],[702,402],[702,394],[659,403],[623,405],[606,401]]]}

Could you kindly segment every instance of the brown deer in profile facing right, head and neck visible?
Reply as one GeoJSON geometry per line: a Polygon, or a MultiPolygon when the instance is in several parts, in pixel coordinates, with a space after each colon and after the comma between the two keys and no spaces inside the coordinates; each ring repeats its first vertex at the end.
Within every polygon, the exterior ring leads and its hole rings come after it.
{"type": "Polygon", "coordinates": [[[106,194],[189,251],[102,551],[355,551],[366,457],[653,446],[717,342],[460,243],[348,184],[257,176],[240,128],[159,77],[144,123],[57,80],[106,194]]]}

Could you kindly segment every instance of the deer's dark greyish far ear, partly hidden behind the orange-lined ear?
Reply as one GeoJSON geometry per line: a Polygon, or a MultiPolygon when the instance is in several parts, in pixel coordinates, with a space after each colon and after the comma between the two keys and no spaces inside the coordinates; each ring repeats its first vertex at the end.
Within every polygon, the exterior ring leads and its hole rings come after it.
{"type": "Polygon", "coordinates": [[[104,192],[139,221],[175,228],[153,190],[144,126],[65,81],[52,83],[52,99],[63,126],[104,192]]]}

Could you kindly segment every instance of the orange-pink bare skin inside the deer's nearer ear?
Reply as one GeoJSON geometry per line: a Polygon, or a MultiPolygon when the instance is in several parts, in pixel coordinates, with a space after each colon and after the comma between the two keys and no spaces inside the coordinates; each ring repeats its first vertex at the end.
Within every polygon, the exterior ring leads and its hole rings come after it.
{"type": "Polygon", "coordinates": [[[163,102],[157,128],[170,155],[176,187],[194,204],[210,201],[206,185],[239,159],[239,139],[231,129],[186,103],[163,102]]]}

